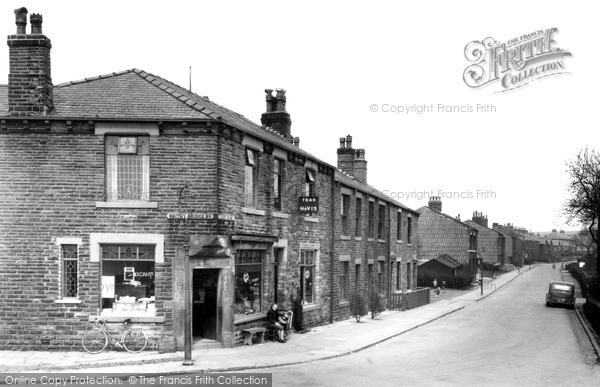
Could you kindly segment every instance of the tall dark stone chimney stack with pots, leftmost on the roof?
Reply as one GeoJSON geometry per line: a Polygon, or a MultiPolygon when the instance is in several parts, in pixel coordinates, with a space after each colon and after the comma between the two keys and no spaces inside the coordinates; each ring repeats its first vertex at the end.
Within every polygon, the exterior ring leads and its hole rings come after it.
{"type": "Polygon", "coordinates": [[[8,36],[8,112],[13,116],[45,115],[54,108],[50,71],[50,39],[42,34],[42,15],[31,14],[27,35],[27,8],[15,10],[16,35],[8,36]]]}

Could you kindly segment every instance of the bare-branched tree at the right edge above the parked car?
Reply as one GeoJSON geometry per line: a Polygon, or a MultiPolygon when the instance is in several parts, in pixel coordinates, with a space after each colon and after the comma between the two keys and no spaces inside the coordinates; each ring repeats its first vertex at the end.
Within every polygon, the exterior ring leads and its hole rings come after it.
{"type": "Polygon", "coordinates": [[[569,198],[564,212],[569,221],[587,226],[596,245],[596,276],[600,278],[600,153],[588,148],[579,151],[567,162],[567,173],[569,198]]]}

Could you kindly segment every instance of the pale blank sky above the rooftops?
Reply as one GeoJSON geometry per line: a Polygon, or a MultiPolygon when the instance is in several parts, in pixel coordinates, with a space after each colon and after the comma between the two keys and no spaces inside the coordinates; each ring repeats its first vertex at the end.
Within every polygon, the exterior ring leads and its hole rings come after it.
{"type": "Polygon", "coordinates": [[[593,1],[10,0],[5,36],[22,6],[44,17],[54,84],[139,68],[187,87],[192,66],[194,92],[257,123],[264,89],[284,88],[301,148],[336,165],[352,135],[368,183],[413,209],[433,194],[462,220],[481,211],[490,224],[579,228],[561,208],[566,161],[600,148],[593,1]],[[572,54],[563,74],[508,92],[465,84],[468,43],[551,28],[572,54]]]}

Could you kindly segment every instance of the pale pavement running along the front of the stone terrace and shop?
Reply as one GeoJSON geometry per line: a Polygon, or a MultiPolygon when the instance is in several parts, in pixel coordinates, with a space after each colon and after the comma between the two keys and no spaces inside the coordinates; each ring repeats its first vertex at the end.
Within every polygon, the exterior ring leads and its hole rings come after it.
{"type": "MultiPolygon", "coordinates": [[[[535,265],[531,269],[535,269],[535,265]]],[[[360,323],[348,319],[312,328],[307,333],[295,333],[285,344],[269,341],[252,346],[194,350],[193,365],[182,364],[183,352],[130,354],[107,350],[93,355],[83,349],[82,352],[0,351],[0,372],[183,374],[272,368],[332,359],[375,346],[455,313],[518,280],[527,270],[525,267],[520,273],[513,270],[495,279],[484,278],[483,295],[480,288],[452,298],[441,294],[435,303],[419,308],[386,311],[375,319],[364,316],[360,323]]]]}

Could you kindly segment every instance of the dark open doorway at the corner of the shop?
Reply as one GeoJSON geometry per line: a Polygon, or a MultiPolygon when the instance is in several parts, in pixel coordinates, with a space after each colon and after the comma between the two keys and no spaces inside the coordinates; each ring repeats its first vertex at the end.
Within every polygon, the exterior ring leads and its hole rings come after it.
{"type": "Polygon", "coordinates": [[[219,269],[194,269],[192,277],[192,335],[216,340],[219,269]]]}

